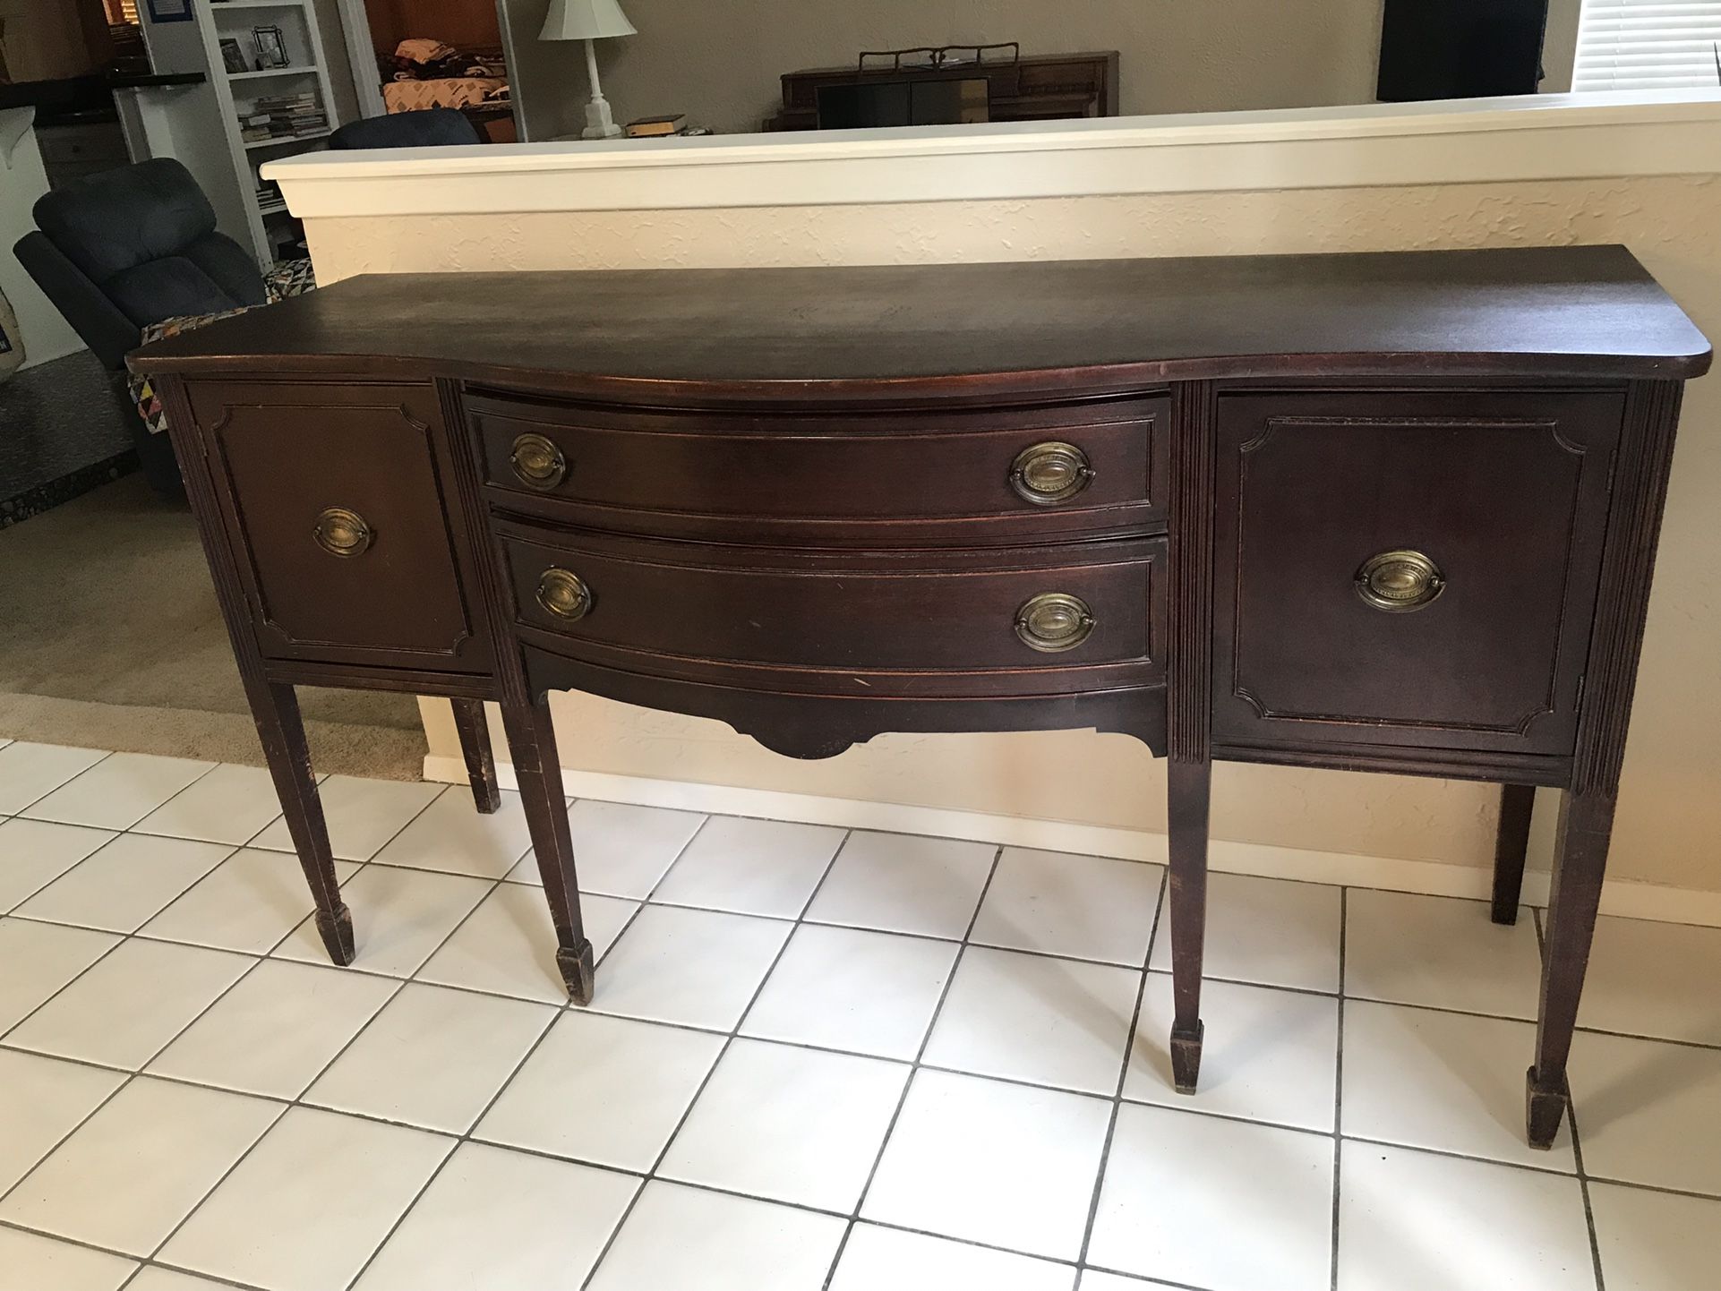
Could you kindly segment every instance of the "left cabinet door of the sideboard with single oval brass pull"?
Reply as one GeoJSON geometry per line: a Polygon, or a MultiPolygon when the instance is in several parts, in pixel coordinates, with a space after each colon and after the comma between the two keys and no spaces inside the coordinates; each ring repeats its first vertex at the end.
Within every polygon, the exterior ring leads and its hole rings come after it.
{"type": "Polygon", "coordinates": [[[265,658],[489,670],[434,386],[189,396],[265,658]]]}

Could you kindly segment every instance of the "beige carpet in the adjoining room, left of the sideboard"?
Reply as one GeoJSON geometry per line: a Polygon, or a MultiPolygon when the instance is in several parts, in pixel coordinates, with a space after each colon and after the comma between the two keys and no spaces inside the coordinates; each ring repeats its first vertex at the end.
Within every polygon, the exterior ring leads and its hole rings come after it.
{"type": "MultiPolygon", "coordinates": [[[[299,704],[318,771],[420,778],[411,695],[299,704]]],[[[0,528],[0,737],[263,764],[196,525],[141,475],[0,528]]]]}

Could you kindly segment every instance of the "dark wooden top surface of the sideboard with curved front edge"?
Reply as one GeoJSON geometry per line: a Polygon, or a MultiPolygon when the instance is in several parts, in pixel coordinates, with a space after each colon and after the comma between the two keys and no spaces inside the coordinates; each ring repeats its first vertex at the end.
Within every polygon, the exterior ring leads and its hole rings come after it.
{"type": "Polygon", "coordinates": [[[1707,372],[1709,358],[1626,248],[1570,246],[367,274],[158,341],[131,361],[188,375],[339,368],[771,396],[1274,375],[1680,380],[1707,372]]]}

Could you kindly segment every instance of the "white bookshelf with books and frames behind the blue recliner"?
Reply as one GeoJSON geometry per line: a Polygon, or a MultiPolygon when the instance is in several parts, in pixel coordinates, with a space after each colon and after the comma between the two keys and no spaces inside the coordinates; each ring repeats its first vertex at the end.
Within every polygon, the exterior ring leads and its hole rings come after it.
{"type": "MultiPolygon", "coordinates": [[[[210,141],[231,165],[244,232],[260,265],[281,258],[281,246],[296,236],[286,203],[258,198],[258,167],[294,153],[324,148],[341,120],[329,84],[329,59],[313,0],[191,0],[191,22],[151,22],[146,33],[158,71],[203,72],[208,76],[220,117],[222,138],[210,141]],[[286,67],[262,59],[253,28],[281,28],[286,67]],[[227,71],[222,40],[239,43],[244,71],[227,71]],[[262,64],[262,65],[260,65],[262,64]],[[325,124],[298,136],[246,139],[241,117],[255,112],[258,98],[312,95],[325,124]]],[[[213,195],[212,195],[213,196],[213,195]]],[[[232,208],[232,203],[225,203],[232,208]]],[[[222,208],[222,203],[217,203],[222,208]]],[[[239,232],[234,232],[239,236],[239,232]]],[[[244,238],[241,236],[241,241],[244,238]]]]}

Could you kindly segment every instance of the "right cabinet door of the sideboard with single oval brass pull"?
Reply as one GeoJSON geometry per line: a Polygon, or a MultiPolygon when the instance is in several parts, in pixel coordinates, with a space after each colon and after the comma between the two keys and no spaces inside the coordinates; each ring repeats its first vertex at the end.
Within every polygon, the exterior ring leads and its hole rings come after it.
{"type": "Polygon", "coordinates": [[[1220,744],[1570,756],[1623,394],[1225,394],[1220,744]]]}

